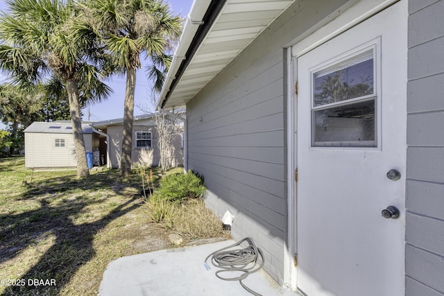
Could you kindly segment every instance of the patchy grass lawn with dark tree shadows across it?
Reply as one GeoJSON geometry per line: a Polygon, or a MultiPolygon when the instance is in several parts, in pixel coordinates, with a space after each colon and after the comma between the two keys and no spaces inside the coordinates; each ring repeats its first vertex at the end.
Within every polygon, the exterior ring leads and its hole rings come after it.
{"type": "Polygon", "coordinates": [[[96,295],[110,261],[171,247],[140,189],[137,174],[121,180],[105,170],[78,180],[76,171],[0,159],[0,294],[96,295]],[[40,285],[30,285],[35,279],[40,285]]]}

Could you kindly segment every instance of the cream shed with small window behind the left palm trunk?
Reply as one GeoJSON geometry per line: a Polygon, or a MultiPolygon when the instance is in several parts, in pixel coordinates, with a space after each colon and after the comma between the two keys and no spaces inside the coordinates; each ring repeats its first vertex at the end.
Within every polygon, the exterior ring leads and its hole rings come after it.
{"type": "MultiPolygon", "coordinates": [[[[82,123],[85,149],[99,148],[99,134],[89,123],[82,123]]],[[[25,167],[53,168],[77,166],[71,122],[35,121],[24,130],[25,167]]]]}

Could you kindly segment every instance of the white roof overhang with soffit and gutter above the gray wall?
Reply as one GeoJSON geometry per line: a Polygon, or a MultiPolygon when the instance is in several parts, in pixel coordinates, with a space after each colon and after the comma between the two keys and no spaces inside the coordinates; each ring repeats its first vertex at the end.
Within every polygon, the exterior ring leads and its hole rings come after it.
{"type": "Polygon", "coordinates": [[[294,0],[194,0],[157,107],[185,105],[294,0]]]}

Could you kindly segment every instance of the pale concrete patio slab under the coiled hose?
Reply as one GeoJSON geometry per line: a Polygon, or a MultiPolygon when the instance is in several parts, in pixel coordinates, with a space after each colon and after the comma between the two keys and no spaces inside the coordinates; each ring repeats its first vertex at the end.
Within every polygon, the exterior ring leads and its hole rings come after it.
{"type": "MultiPolygon", "coordinates": [[[[134,256],[126,256],[108,264],[99,288],[99,295],[246,295],[239,281],[223,281],[216,277],[216,268],[210,262],[205,269],[204,260],[212,252],[233,240],[160,250],[134,256]]],[[[297,296],[278,285],[264,270],[255,272],[243,283],[264,296],[297,296]]]]}

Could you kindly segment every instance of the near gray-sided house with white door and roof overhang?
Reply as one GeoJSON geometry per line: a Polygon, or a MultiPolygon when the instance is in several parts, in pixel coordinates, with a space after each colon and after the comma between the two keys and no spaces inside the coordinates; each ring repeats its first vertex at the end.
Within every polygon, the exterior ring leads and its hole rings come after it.
{"type": "Polygon", "coordinates": [[[186,105],[185,169],[280,284],[444,295],[443,15],[436,0],[194,1],[157,107],[186,105]]]}

